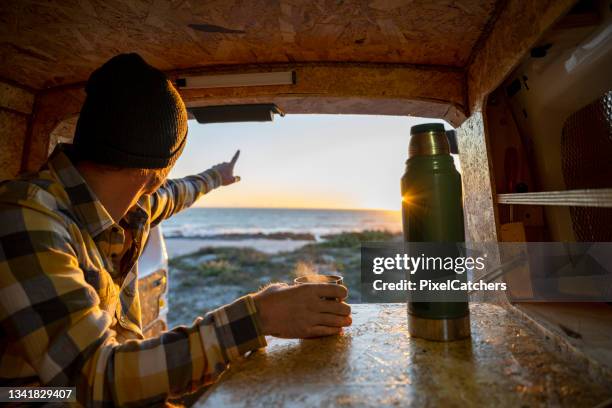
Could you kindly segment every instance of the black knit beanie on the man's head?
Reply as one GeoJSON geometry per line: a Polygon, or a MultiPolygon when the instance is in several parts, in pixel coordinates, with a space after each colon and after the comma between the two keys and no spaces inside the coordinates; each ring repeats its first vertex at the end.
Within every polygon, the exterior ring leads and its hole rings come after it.
{"type": "Polygon", "coordinates": [[[80,160],[118,167],[172,165],[187,139],[187,111],[166,76],[138,54],[120,54],[95,70],[74,134],[80,160]]]}

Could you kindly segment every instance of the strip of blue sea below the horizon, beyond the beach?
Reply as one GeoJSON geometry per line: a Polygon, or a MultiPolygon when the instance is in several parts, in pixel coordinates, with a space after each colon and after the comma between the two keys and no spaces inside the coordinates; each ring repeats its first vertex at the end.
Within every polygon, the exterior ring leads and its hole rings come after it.
{"type": "MultiPolygon", "coordinates": [[[[363,230],[401,231],[399,211],[289,208],[189,208],[162,224],[166,238],[210,239],[270,234],[325,235],[363,230]]],[[[299,237],[295,238],[299,239],[299,237]]]]}

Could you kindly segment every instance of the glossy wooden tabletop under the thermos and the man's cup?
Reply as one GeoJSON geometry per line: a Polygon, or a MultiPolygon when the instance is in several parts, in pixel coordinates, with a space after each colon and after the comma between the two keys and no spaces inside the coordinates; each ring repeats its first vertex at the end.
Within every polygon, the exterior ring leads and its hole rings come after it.
{"type": "Polygon", "coordinates": [[[471,307],[472,338],[410,338],[406,306],[353,305],[341,336],[268,338],[233,364],[197,407],[568,406],[612,397],[505,309],[471,307]]]}

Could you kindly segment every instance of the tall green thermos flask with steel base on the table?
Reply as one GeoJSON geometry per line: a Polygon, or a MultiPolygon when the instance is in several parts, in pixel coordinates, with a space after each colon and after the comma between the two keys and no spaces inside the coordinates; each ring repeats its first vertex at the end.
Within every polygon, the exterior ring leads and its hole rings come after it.
{"type": "MultiPolygon", "coordinates": [[[[407,243],[445,243],[439,247],[454,248],[454,251],[458,251],[455,243],[460,244],[465,241],[461,175],[450,155],[444,125],[427,123],[413,126],[410,134],[406,172],[402,177],[404,240],[407,243]]],[[[424,244],[428,248],[433,247],[427,245],[424,244]]],[[[445,249],[440,251],[437,248],[438,244],[430,251],[438,253],[429,255],[448,255],[447,250],[444,253],[445,249]]],[[[417,279],[433,277],[442,280],[448,277],[465,281],[465,276],[453,277],[448,274],[448,271],[421,271],[409,278],[414,279],[418,275],[417,279]]],[[[454,272],[451,272],[451,275],[454,275],[454,272]]],[[[464,295],[459,294],[457,299],[455,293],[453,300],[448,302],[439,297],[435,301],[422,301],[422,298],[420,301],[414,301],[409,297],[410,335],[437,341],[469,337],[468,298],[467,293],[464,295]]]]}

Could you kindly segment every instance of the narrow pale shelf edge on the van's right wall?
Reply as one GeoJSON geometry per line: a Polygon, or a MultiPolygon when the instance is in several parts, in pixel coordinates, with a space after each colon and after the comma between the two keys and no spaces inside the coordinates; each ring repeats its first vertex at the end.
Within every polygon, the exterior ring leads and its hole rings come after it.
{"type": "Polygon", "coordinates": [[[612,208],[612,188],[498,194],[497,203],[612,208]]]}

